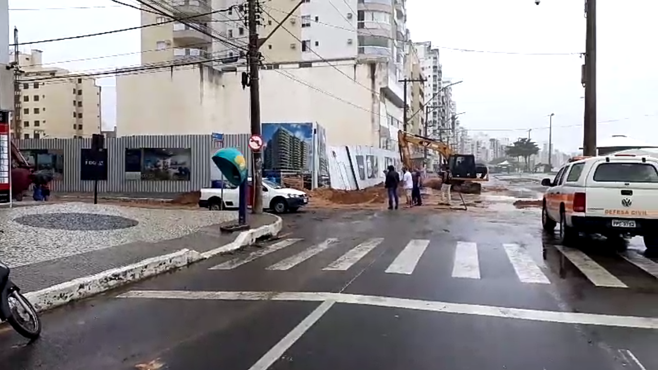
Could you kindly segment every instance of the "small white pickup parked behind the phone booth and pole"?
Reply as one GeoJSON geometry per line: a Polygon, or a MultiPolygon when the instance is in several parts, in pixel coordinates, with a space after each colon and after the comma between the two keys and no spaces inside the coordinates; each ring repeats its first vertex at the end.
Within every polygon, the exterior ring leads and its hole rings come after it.
{"type": "MultiPolygon", "coordinates": [[[[251,183],[251,178],[247,179],[251,183]]],[[[203,188],[199,207],[218,211],[237,209],[240,204],[240,191],[237,186],[224,181],[224,189],[203,188]]],[[[309,196],[299,190],[284,188],[275,182],[263,179],[263,207],[276,213],[295,212],[309,204],[309,196]]]]}

